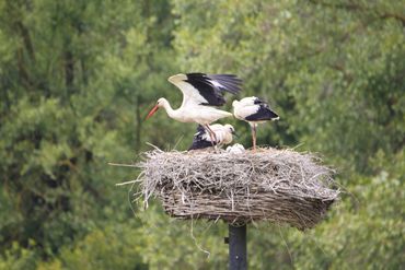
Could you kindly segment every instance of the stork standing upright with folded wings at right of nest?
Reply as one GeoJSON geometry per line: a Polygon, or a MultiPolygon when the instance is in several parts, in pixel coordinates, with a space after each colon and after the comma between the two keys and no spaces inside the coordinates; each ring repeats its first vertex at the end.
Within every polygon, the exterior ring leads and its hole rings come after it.
{"type": "Polygon", "coordinates": [[[278,120],[278,115],[269,105],[256,96],[233,101],[233,115],[248,122],[252,128],[253,150],[256,151],[256,127],[261,122],[278,120]]]}

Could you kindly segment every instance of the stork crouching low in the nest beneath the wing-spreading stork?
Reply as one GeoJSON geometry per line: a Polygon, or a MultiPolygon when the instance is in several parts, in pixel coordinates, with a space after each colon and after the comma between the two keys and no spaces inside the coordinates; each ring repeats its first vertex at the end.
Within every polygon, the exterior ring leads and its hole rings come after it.
{"type": "Polygon", "coordinates": [[[229,124],[213,124],[210,125],[209,128],[216,133],[216,141],[212,142],[211,137],[207,133],[207,130],[202,126],[198,125],[197,133],[194,134],[193,144],[188,151],[206,149],[211,145],[230,144],[233,140],[233,136],[235,134],[235,129],[229,124]]]}

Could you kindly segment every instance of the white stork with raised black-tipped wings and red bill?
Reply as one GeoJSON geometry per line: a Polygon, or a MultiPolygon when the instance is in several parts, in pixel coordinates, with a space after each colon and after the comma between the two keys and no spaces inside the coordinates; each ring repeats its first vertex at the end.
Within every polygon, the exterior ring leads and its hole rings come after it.
{"type": "Polygon", "coordinates": [[[211,141],[217,141],[209,125],[218,119],[230,117],[232,114],[217,109],[215,106],[225,104],[224,92],[238,94],[241,91],[242,80],[233,74],[181,73],[170,77],[169,82],[182,91],[182,106],[173,109],[167,99],[161,97],[148,114],[147,119],[163,107],[169,117],[177,121],[201,125],[210,134],[211,141]]]}

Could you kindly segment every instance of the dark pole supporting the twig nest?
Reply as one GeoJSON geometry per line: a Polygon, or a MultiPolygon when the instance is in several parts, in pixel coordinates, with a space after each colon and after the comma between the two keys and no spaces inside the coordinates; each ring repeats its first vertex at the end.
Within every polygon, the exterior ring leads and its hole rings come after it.
{"type": "Polygon", "coordinates": [[[246,270],[246,225],[236,227],[229,225],[229,269],[246,270]]]}

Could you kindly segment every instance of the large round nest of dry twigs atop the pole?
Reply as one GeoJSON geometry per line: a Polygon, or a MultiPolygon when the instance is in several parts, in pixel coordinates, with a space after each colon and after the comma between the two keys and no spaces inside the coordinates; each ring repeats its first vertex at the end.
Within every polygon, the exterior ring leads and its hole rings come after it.
{"type": "Polygon", "coordinates": [[[320,162],[271,148],[238,154],[153,150],[137,166],[146,203],[158,197],[171,216],[238,224],[267,220],[305,230],[339,195],[333,171],[320,162]]]}

